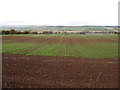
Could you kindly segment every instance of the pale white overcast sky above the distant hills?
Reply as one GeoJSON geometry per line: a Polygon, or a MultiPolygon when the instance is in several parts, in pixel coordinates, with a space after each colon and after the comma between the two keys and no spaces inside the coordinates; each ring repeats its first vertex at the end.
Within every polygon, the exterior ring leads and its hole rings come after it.
{"type": "Polygon", "coordinates": [[[1,25],[118,25],[120,0],[0,0],[1,25]]]}

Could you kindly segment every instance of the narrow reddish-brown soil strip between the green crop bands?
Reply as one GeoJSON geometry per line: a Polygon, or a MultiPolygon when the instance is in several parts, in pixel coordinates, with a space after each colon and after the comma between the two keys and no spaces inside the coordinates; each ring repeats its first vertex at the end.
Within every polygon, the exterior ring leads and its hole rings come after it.
{"type": "Polygon", "coordinates": [[[96,42],[110,42],[117,43],[118,39],[106,39],[106,38],[94,38],[93,40],[85,38],[85,37],[31,37],[31,36],[3,36],[3,43],[16,43],[16,42],[34,42],[34,43],[66,43],[66,44],[74,44],[74,43],[82,43],[82,44],[91,44],[96,42]],[[62,41],[62,42],[61,42],[62,41]]]}

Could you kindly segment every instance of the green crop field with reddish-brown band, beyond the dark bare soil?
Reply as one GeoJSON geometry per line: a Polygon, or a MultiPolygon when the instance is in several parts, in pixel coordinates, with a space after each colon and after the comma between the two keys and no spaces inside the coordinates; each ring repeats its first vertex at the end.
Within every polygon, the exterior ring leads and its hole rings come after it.
{"type": "Polygon", "coordinates": [[[4,35],[2,53],[117,58],[117,35],[4,35]]]}

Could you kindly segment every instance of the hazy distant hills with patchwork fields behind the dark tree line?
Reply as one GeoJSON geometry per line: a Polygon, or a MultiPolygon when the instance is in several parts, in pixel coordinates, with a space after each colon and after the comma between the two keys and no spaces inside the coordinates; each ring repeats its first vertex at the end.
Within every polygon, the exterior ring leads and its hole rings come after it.
{"type": "Polygon", "coordinates": [[[115,31],[118,26],[35,26],[35,25],[7,25],[0,30],[15,29],[17,31],[115,31]]]}

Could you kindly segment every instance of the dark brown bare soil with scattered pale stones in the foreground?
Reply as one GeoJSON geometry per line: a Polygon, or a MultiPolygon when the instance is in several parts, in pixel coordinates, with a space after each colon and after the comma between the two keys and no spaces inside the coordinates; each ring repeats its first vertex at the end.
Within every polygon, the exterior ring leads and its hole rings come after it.
{"type": "Polygon", "coordinates": [[[3,88],[117,88],[117,59],[2,54],[3,88]]]}

